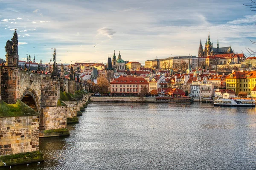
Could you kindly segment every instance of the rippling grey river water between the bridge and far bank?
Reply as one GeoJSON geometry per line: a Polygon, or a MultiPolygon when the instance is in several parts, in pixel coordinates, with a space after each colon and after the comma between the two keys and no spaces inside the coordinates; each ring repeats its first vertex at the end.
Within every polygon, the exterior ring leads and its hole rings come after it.
{"type": "Polygon", "coordinates": [[[91,103],[68,128],[69,137],[40,139],[44,162],[11,169],[256,169],[256,108],[91,103]]]}

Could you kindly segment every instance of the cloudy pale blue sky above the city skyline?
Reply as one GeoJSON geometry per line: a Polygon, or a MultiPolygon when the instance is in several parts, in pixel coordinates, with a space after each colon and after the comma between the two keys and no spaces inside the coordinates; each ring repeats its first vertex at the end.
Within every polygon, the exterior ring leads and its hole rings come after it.
{"type": "MultiPolygon", "coordinates": [[[[210,34],[213,46],[246,54],[256,49],[250,0],[0,0],[0,58],[18,33],[20,60],[106,63],[119,53],[138,61],[195,55],[210,34]]],[[[256,41],[256,40],[255,40],[256,41]]]]}

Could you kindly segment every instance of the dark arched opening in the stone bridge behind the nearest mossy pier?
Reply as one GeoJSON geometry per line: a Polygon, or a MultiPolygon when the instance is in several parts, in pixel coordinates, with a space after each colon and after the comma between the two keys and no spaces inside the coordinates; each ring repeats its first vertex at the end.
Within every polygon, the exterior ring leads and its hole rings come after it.
{"type": "Polygon", "coordinates": [[[38,113],[41,113],[39,98],[34,89],[26,88],[26,90],[20,96],[20,101],[24,102],[38,113]]]}

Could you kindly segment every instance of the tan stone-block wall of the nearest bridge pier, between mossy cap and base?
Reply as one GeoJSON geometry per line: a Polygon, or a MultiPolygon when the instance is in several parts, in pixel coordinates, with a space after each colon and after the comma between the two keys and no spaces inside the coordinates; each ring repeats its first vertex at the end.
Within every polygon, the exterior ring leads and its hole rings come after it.
{"type": "Polygon", "coordinates": [[[0,118],[0,156],[39,150],[39,116],[0,118]]]}

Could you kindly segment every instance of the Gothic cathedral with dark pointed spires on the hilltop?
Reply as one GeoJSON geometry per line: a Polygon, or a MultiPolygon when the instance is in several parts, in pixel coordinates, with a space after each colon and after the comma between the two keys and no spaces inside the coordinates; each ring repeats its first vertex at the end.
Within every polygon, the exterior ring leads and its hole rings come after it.
{"type": "Polygon", "coordinates": [[[213,43],[210,40],[210,34],[208,35],[208,40],[205,41],[204,49],[203,49],[202,41],[200,40],[198,57],[208,57],[216,54],[230,54],[230,53],[233,53],[231,46],[219,48],[219,44],[217,42],[217,48],[214,48],[213,43]]]}

